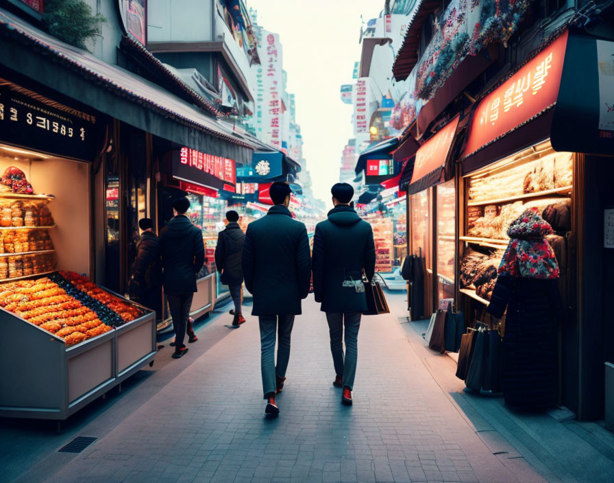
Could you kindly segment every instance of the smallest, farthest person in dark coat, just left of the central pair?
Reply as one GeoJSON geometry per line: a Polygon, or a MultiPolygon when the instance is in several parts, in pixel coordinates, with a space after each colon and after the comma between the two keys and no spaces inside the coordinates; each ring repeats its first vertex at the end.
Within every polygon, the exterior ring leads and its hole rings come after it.
{"type": "Polygon", "coordinates": [[[234,210],[226,213],[226,228],[217,235],[215,247],[215,266],[220,274],[220,281],[228,285],[230,296],[234,302],[233,327],[245,322],[241,314],[241,285],[243,285],[243,271],[241,270],[241,256],[243,253],[245,233],[238,226],[238,213],[234,210]]]}

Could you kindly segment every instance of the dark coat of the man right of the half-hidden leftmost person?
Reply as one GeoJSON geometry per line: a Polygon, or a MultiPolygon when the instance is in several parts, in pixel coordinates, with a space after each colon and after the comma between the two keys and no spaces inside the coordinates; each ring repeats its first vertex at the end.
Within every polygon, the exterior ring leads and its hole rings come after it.
{"type": "Polygon", "coordinates": [[[185,215],[175,216],[160,231],[162,281],[167,294],[197,291],[196,274],[205,261],[201,231],[185,215]]]}

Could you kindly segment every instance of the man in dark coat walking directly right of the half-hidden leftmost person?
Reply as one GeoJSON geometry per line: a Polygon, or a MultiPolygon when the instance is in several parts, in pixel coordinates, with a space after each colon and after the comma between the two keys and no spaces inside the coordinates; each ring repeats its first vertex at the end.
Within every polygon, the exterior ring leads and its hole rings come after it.
{"type": "Polygon", "coordinates": [[[186,328],[188,342],[198,340],[188,322],[190,307],[196,287],[196,274],[205,261],[205,246],[201,231],[186,216],[190,208],[188,198],[179,198],[173,202],[175,217],[160,232],[160,249],[162,251],[162,282],[164,293],[169,300],[169,309],[175,329],[175,353],[179,359],[188,348],[184,344],[186,328]]]}

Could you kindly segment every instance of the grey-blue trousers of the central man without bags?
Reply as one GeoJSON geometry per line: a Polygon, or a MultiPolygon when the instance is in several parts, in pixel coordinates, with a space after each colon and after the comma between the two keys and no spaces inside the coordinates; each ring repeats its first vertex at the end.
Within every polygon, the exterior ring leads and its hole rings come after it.
{"type": "Polygon", "coordinates": [[[260,316],[260,368],[262,370],[262,392],[265,399],[275,395],[275,375],[286,376],[290,360],[290,335],[294,316],[260,316]],[[278,333],[277,366],[275,366],[275,332],[278,333]]]}

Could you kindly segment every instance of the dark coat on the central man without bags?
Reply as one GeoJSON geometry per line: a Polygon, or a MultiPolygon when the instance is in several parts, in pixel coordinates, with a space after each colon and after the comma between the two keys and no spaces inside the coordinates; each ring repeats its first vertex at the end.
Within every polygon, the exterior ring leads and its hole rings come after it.
{"type": "Polygon", "coordinates": [[[305,225],[281,204],[251,222],[243,245],[245,287],[254,316],[298,315],[309,294],[311,265],[305,225]]]}

